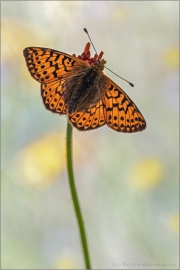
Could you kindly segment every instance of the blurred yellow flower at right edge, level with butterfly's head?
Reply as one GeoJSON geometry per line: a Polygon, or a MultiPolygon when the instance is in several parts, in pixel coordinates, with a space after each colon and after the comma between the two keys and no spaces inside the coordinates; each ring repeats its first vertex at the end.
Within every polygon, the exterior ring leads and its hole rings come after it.
{"type": "Polygon", "coordinates": [[[163,59],[166,65],[178,68],[179,67],[179,48],[170,48],[163,54],[163,59]]]}

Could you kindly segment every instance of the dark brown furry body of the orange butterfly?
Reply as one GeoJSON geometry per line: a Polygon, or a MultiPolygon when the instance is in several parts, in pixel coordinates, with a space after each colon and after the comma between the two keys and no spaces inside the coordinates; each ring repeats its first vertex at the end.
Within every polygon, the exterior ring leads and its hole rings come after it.
{"type": "Polygon", "coordinates": [[[103,73],[97,69],[87,67],[77,75],[67,79],[64,100],[68,113],[85,111],[100,100],[100,89],[103,73]]]}

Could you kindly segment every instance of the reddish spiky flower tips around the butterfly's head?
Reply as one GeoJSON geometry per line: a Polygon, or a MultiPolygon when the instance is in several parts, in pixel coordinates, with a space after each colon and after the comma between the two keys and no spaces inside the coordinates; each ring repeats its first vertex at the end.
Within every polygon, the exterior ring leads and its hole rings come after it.
{"type": "MultiPolygon", "coordinates": [[[[100,52],[99,55],[96,53],[94,57],[91,57],[90,42],[88,42],[84,48],[84,52],[81,55],[78,55],[78,58],[85,61],[89,65],[94,65],[98,70],[103,70],[104,65],[106,63],[106,61],[102,59],[103,54],[104,54],[103,52],[100,52]]],[[[73,54],[73,56],[76,56],[76,55],[73,54]]]]}

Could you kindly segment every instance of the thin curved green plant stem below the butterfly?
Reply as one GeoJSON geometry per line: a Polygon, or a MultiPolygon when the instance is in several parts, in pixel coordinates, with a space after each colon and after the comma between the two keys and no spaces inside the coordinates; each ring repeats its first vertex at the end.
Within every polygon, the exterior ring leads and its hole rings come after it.
{"type": "Polygon", "coordinates": [[[86,240],[86,233],[85,228],[83,224],[82,214],[79,206],[78,196],[76,192],[75,182],[74,182],[74,174],[73,174],[73,166],[72,166],[72,126],[67,124],[67,168],[68,168],[68,176],[69,176],[69,184],[71,189],[71,195],[73,199],[74,209],[78,221],[79,226],[79,233],[81,237],[81,243],[82,243],[82,249],[84,253],[84,260],[86,264],[86,269],[91,269],[90,265],[90,259],[89,259],[89,252],[88,252],[88,246],[87,246],[87,240],[86,240]]]}

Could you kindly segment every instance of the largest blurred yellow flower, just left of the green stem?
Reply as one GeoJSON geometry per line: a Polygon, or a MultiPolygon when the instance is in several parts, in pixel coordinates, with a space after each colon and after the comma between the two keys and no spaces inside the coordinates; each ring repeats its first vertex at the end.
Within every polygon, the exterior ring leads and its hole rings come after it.
{"type": "Polygon", "coordinates": [[[55,181],[64,165],[65,138],[58,132],[39,138],[14,158],[19,178],[39,187],[55,181]]]}

